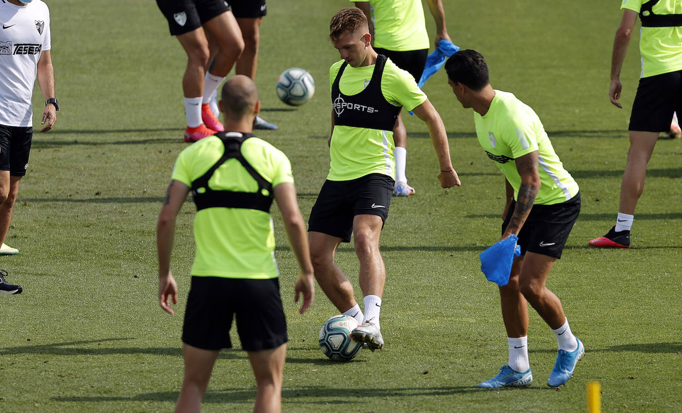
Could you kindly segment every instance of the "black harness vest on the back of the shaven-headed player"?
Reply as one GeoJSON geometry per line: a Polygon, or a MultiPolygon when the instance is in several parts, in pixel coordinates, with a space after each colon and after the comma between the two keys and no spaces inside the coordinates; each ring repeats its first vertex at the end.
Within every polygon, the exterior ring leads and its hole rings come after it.
{"type": "Polygon", "coordinates": [[[272,183],[263,178],[241,155],[241,144],[254,135],[218,132],[216,136],[222,140],[225,151],[216,164],[213,164],[205,174],[192,182],[192,196],[194,197],[196,210],[201,211],[206,208],[242,208],[256,209],[269,213],[273,200],[272,183]],[[214,190],[209,187],[209,179],[211,179],[213,173],[227,159],[233,158],[237,159],[241,166],[256,180],[258,192],[214,190]]]}

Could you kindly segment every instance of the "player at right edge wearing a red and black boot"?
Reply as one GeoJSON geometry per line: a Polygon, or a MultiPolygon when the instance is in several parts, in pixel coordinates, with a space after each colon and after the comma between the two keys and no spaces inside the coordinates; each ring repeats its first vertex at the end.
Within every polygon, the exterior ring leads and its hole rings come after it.
{"type": "MultiPolygon", "coordinates": [[[[644,190],[647,164],[660,132],[672,131],[670,119],[682,110],[682,6],[679,1],[623,0],[623,18],[616,31],[611,56],[611,103],[623,108],[621,68],[637,16],[642,20],[640,52],[642,78],[630,114],[630,147],[621,183],[616,224],[594,247],[629,248],[637,201],[644,190]],[[670,127],[670,129],[668,129],[670,127]]],[[[672,135],[672,133],[671,133],[672,135]]]]}

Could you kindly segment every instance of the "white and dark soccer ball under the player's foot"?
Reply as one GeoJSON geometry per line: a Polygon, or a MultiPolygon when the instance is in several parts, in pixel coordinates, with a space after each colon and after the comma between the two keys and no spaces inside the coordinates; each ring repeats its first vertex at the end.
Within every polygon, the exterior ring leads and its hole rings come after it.
{"type": "Polygon", "coordinates": [[[333,316],[325,321],[318,337],[325,356],[333,361],[349,361],[357,356],[362,343],[351,337],[351,331],[357,326],[351,316],[333,316]]]}

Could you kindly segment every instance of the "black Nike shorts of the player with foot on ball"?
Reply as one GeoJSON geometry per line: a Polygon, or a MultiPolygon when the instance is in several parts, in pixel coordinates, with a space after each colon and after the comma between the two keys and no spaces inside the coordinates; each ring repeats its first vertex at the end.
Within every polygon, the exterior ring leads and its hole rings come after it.
{"type": "Polygon", "coordinates": [[[325,181],[308,219],[308,231],[338,236],[351,242],[355,215],[388,217],[391,195],[396,185],[384,174],[368,174],[351,181],[325,181]]]}

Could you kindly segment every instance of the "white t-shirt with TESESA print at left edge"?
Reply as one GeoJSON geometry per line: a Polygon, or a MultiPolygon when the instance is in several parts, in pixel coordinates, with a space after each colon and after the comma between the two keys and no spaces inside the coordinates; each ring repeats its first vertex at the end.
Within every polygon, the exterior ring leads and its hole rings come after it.
{"type": "Polygon", "coordinates": [[[0,125],[32,126],[33,83],[50,50],[50,10],[41,0],[0,3],[0,125]]]}

